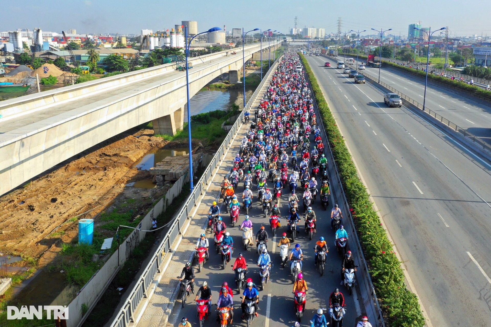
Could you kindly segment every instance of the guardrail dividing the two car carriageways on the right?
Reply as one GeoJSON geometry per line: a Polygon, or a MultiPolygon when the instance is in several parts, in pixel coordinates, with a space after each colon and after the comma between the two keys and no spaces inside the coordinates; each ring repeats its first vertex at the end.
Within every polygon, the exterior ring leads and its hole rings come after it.
{"type": "MultiPolygon", "coordinates": [[[[328,57],[328,58],[332,58],[332,57],[328,57]]],[[[349,65],[349,64],[346,64],[345,63],[345,65],[349,65]]],[[[390,86],[390,85],[388,85],[388,84],[386,84],[386,83],[384,83],[382,81],[381,82],[378,82],[378,78],[377,77],[374,77],[372,75],[368,75],[367,73],[365,73],[363,71],[360,71],[357,66],[354,66],[354,65],[349,65],[349,66],[351,66],[352,68],[356,69],[359,74],[361,74],[361,75],[363,75],[363,76],[365,76],[367,78],[370,78],[375,83],[378,83],[378,84],[382,85],[387,90],[389,90],[389,91],[391,91],[393,93],[397,93],[401,97],[401,99],[403,99],[404,101],[408,101],[410,104],[414,105],[418,109],[423,110],[423,104],[422,103],[419,103],[418,101],[415,101],[415,100],[411,99],[410,97],[408,97],[407,95],[405,95],[401,91],[398,91],[398,90],[394,89],[392,86],[390,86]]],[[[447,84],[444,84],[444,85],[447,85],[447,84]]],[[[445,124],[446,126],[452,128],[456,132],[464,135],[465,137],[467,137],[468,139],[470,139],[472,142],[478,144],[484,150],[491,151],[491,145],[489,143],[483,141],[478,136],[476,136],[476,135],[468,132],[467,130],[465,130],[464,128],[458,126],[457,124],[452,123],[451,121],[449,121],[448,119],[442,117],[441,115],[438,115],[435,111],[429,109],[428,106],[425,106],[425,110],[423,112],[426,112],[430,116],[436,118],[436,120],[438,120],[441,123],[445,124]]]]}

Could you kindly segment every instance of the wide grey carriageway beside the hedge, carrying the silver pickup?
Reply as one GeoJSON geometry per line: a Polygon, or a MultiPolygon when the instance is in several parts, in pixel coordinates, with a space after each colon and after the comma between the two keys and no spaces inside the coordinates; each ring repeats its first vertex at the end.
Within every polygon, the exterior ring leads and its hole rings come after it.
{"type": "Polygon", "coordinates": [[[491,166],[406,108],[386,108],[373,85],[355,85],[341,70],[321,67],[325,58],[307,60],[429,326],[447,326],[448,317],[491,326],[491,166]]]}

